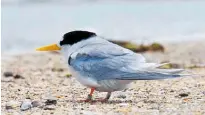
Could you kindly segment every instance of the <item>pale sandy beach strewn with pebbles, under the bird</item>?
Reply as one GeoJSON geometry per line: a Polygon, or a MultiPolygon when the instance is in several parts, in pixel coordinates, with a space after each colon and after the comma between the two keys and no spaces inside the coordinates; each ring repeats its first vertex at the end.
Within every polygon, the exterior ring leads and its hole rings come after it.
{"type": "MultiPolygon", "coordinates": [[[[149,62],[171,62],[197,76],[135,81],[124,91],[113,92],[107,103],[80,103],[89,89],[68,76],[63,57],[55,52],[2,55],[2,115],[204,115],[205,41],[167,43],[165,52],[142,53],[149,62]],[[20,77],[5,77],[4,72],[20,77]],[[36,107],[22,111],[25,100],[36,107]],[[53,100],[49,104],[48,100],[53,100]]],[[[106,93],[95,92],[95,98],[106,93]]]]}

